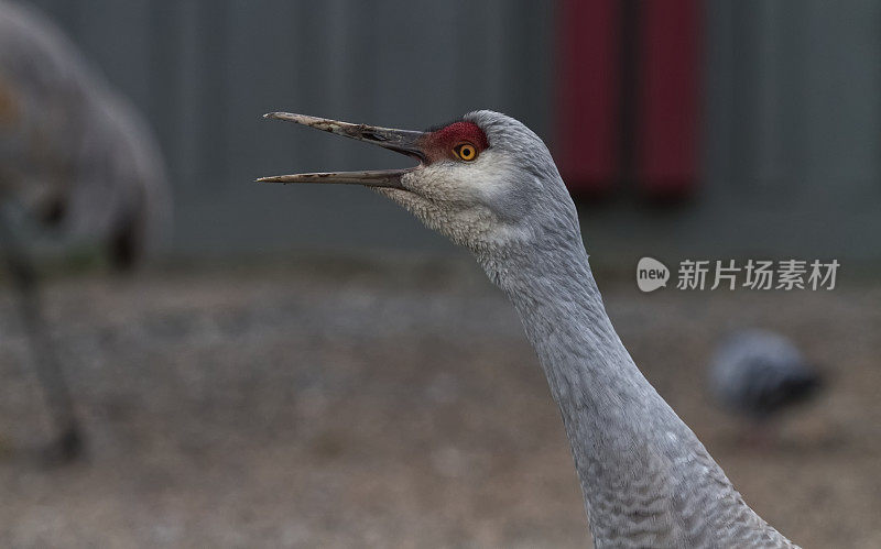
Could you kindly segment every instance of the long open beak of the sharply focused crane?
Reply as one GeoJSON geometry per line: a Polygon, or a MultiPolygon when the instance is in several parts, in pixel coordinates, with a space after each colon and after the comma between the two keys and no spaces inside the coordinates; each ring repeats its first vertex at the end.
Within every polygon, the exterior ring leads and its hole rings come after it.
{"type": "Polygon", "coordinates": [[[263,118],[287,120],[297,124],[308,125],[316,130],[336,133],[345,138],[357,139],[373,143],[385,149],[391,149],[401,154],[412,156],[420,161],[420,165],[406,169],[373,169],[368,172],[326,172],[317,174],[275,175],[261,177],[258,182],[265,183],[342,183],[365,185],[368,187],[391,187],[402,189],[401,176],[407,172],[418,169],[425,161],[425,154],[420,147],[423,132],[409,130],[391,130],[366,124],[351,124],[326,118],[307,117],[290,112],[270,112],[263,118]]]}

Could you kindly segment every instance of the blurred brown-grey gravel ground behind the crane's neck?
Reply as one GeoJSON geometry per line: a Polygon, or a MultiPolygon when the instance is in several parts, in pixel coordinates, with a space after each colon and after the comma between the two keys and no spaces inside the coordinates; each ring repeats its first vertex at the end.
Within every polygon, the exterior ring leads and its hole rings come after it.
{"type": "MultiPolygon", "coordinates": [[[[881,547],[881,285],[598,278],[637,363],[760,514],[805,547],[881,547]],[[703,384],[714,342],[747,325],[831,378],[763,447],[703,384]]],[[[46,419],[0,287],[0,547],[589,545],[537,362],[470,264],[83,275],[46,301],[89,453],[32,459],[46,419]]]]}

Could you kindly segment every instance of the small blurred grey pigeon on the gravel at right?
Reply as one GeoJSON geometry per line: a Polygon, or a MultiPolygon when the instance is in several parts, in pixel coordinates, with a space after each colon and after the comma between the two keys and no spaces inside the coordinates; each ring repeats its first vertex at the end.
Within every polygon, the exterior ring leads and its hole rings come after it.
{"type": "Polygon", "coordinates": [[[823,386],[798,349],[768,330],[730,336],[716,351],[708,373],[714,397],[757,424],[808,400],[823,386]]]}

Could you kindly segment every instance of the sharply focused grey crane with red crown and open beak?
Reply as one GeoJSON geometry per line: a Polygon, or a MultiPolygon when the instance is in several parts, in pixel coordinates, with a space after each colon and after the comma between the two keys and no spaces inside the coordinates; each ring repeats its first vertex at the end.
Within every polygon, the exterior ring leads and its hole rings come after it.
{"type": "Polygon", "coordinates": [[[486,110],[425,132],[268,117],[418,161],[406,169],[259,180],[372,187],[471,251],[513,303],[539,355],[597,548],[794,547],[747,506],[633,363],[602,305],[575,205],[525,125],[486,110]]]}

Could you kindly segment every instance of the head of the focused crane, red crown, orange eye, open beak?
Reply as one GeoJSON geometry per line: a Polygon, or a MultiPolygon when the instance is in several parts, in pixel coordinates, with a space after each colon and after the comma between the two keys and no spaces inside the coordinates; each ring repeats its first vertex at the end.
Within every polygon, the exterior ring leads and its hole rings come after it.
{"type": "Polygon", "coordinates": [[[423,132],[274,112],[265,116],[373,143],[418,164],[405,169],[263,177],[274,183],[341,183],[376,188],[428,227],[477,252],[577,234],[577,217],[551,153],[529,128],[481,110],[423,132]]]}

